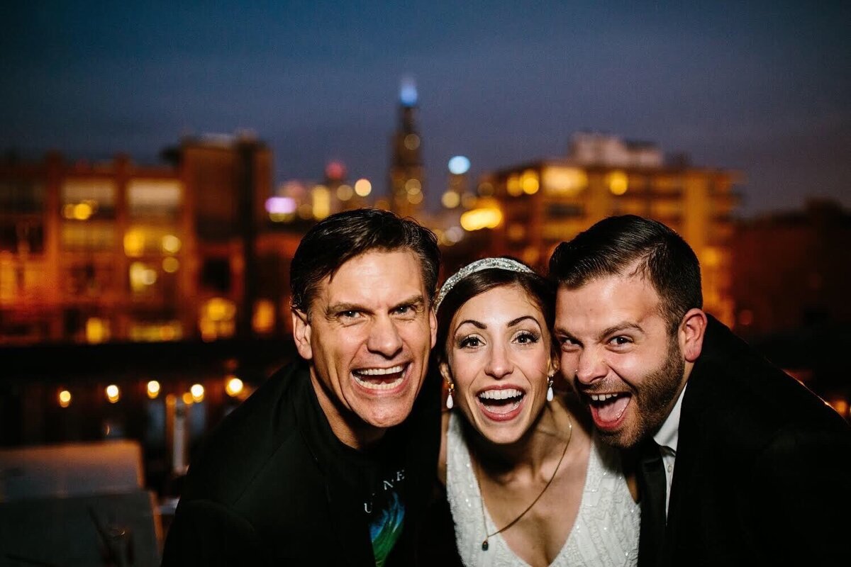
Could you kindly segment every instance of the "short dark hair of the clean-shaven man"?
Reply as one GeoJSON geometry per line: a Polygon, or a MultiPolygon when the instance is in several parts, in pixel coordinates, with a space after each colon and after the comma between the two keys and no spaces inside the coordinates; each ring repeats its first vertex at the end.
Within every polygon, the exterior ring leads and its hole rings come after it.
{"type": "Polygon", "coordinates": [[[420,259],[423,283],[434,299],[440,249],[431,230],[412,218],[374,208],[336,213],[314,225],[301,239],[289,268],[294,309],[307,313],[319,282],[364,252],[410,250],[420,259]]]}

